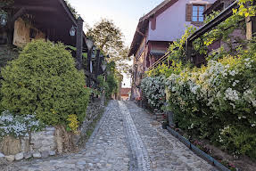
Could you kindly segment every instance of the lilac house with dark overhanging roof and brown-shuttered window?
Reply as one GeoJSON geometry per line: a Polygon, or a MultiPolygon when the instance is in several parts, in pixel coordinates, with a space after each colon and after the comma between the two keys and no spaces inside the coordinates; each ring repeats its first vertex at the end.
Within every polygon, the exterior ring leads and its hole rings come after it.
{"type": "Polygon", "coordinates": [[[139,85],[149,70],[181,38],[186,25],[202,26],[203,12],[216,0],[165,0],[137,25],[128,56],[134,56],[132,99],[141,97],[139,85]]]}

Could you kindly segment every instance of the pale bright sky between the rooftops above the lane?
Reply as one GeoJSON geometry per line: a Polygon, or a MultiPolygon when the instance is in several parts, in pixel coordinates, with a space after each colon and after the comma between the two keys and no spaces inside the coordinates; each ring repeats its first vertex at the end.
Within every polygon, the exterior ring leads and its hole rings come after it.
{"type": "MultiPolygon", "coordinates": [[[[69,0],[85,22],[93,27],[95,22],[106,18],[113,20],[124,34],[125,44],[130,46],[138,20],[163,0],[69,0]]],[[[130,79],[124,77],[124,87],[130,79]]]]}

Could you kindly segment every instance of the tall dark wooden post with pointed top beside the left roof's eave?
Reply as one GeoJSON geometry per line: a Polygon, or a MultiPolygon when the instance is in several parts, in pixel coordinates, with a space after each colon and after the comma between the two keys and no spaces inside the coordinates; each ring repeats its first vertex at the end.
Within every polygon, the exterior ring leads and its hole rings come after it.
{"type": "Polygon", "coordinates": [[[83,51],[83,23],[84,20],[78,17],[77,28],[77,69],[82,69],[82,51],[83,51]]]}

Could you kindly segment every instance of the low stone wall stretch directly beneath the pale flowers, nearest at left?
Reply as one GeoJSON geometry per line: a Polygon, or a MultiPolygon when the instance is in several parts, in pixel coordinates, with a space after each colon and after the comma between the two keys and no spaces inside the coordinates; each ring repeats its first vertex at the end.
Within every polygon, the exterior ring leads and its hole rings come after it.
{"type": "Polygon", "coordinates": [[[41,132],[32,133],[19,139],[10,136],[4,137],[0,144],[2,153],[0,156],[4,155],[7,161],[54,156],[56,150],[54,132],[54,127],[46,127],[41,132]]]}

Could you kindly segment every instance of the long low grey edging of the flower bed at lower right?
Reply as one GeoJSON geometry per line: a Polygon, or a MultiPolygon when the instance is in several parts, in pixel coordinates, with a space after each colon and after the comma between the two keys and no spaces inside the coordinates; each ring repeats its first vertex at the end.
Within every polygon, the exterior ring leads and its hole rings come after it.
{"type": "Polygon", "coordinates": [[[185,137],[183,137],[181,134],[178,134],[178,132],[174,131],[169,126],[167,126],[167,130],[169,131],[170,134],[172,134],[173,136],[178,138],[178,140],[180,142],[183,142],[186,145],[186,147],[188,147],[190,150],[194,151],[194,153],[196,155],[198,155],[202,159],[205,159],[206,161],[211,163],[212,166],[217,167],[221,171],[230,171],[230,169],[228,169],[227,167],[225,167],[224,165],[219,163],[219,161],[217,161],[216,159],[213,159],[210,155],[206,154],[205,152],[203,152],[200,149],[198,149],[197,147],[195,147],[194,144],[192,144],[191,142],[186,140],[185,137]]]}

